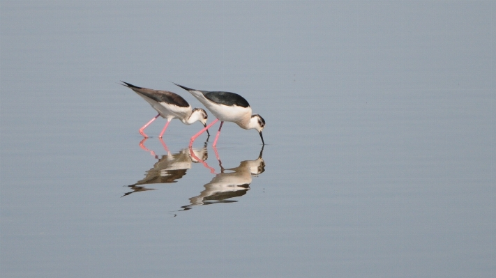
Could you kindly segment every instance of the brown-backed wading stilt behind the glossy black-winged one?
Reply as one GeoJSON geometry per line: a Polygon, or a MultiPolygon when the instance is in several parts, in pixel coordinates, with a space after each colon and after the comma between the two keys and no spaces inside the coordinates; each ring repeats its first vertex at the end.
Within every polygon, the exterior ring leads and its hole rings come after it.
{"type": "MultiPolygon", "coordinates": [[[[167,126],[173,118],[179,118],[179,120],[186,125],[195,123],[195,121],[200,121],[203,126],[206,127],[206,119],[208,118],[206,111],[202,108],[191,109],[189,103],[181,97],[181,95],[170,91],[142,88],[127,82],[121,82],[123,83],[121,84],[122,86],[126,86],[135,91],[135,93],[144,98],[144,100],[146,100],[146,102],[148,102],[153,109],[158,111],[157,116],[153,117],[148,123],[140,128],[140,134],[142,134],[143,137],[148,138],[148,135],[144,133],[144,129],[155,121],[158,116],[162,116],[162,118],[167,119],[167,123],[165,123],[162,132],[160,132],[159,138],[163,137],[165,130],[167,130],[167,126]]],[[[210,136],[208,129],[206,130],[206,133],[210,136]]]]}

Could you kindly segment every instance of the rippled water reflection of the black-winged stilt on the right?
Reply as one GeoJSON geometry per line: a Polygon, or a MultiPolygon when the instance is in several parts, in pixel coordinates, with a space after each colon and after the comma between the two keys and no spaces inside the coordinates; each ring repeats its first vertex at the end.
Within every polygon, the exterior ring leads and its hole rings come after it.
{"type": "Polygon", "coordinates": [[[256,160],[244,160],[238,167],[230,169],[222,166],[217,148],[213,147],[213,150],[219,162],[220,173],[213,177],[210,183],[204,185],[205,190],[200,192],[200,195],[191,197],[190,204],[181,207],[183,210],[190,210],[193,206],[236,202],[229,199],[246,194],[250,190],[252,176],[258,176],[265,171],[265,162],[262,159],[264,146],[256,160]]]}

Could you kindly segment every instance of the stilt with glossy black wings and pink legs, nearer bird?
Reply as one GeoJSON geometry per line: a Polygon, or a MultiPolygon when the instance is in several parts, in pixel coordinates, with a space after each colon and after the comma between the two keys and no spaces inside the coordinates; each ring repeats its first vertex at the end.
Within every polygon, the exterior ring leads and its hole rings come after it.
{"type": "Polygon", "coordinates": [[[262,137],[262,130],[265,126],[264,118],[262,118],[258,114],[252,115],[250,105],[241,95],[230,92],[200,91],[179,84],[176,85],[194,95],[197,100],[200,100],[200,102],[205,105],[206,109],[209,109],[209,111],[212,112],[213,116],[217,117],[215,121],[210,123],[203,130],[200,130],[200,132],[195,134],[193,137],[191,137],[190,146],[193,144],[193,141],[195,141],[196,137],[202,134],[205,130],[208,130],[214,123],[219,120],[220,127],[212,146],[217,145],[217,139],[220,134],[220,129],[222,128],[222,125],[225,121],[236,123],[237,125],[239,125],[240,128],[244,128],[245,130],[257,130],[260,134],[260,138],[262,139],[262,144],[265,144],[264,137],[262,137]]]}

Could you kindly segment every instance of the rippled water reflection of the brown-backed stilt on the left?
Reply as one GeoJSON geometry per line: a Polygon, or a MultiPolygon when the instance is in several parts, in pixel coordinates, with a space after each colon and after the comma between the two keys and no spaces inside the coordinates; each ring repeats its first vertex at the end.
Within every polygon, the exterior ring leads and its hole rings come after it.
{"type": "Polygon", "coordinates": [[[144,146],[144,141],[146,141],[146,138],[140,142],[140,147],[150,152],[153,157],[158,159],[158,162],[153,164],[153,168],[146,171],[146,176],[142,180],[138,180],[133,185],[127,185],[127,187],[133,191],[127,192],[123,196],[128,196],[129,194],[135,192],[155,190],[154,188],[145,187],[146,185],[151,185],[154,183],[176,183],[177,180],[186,175],[186,171],[191,169],[193,163],[204,163],[204,160],[208,157],[206,143],[201,149],[183,148],[179,151],[179,153],[172,154],[169,148],[167,148],[167,145],[165,145],[165,142],[161,138],[159,138],[159,140],[165,151],[167,151],[167,155],[162,155],[160,158],[158,158],[158,155],[156,155],[153,150],[149,150],[146,146],[144,146]],[[193,153],[193,155],[190,155],[190,153],[193,153]]]}

